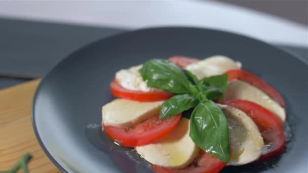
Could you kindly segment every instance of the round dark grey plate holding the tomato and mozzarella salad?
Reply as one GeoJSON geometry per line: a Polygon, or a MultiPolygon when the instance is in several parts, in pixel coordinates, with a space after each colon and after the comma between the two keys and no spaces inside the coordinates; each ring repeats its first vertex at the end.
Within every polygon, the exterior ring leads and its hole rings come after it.
{"type": "Polygon", "coordinates": [[[134,151],[102,132],[101,106],[113,99],[109,83],[121,68],[151,58],[225,55],[272,84],[287,103],[293,137],[286,152],[266,164],[222,172],[305,172],[307,170],[308,66],[264,42],[238,34],[198,28],[153,28],[111,36],[61,61],[42,80],[33,102],[38,142],[64,172],[151,172],[134,151]]]}

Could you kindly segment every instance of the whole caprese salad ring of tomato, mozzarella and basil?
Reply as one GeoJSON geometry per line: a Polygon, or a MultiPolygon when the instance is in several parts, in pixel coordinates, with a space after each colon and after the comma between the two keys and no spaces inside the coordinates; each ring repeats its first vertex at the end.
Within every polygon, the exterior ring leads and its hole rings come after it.
{"type": "Polygon", "coordinates": [[[156,172],[218,172],[281,153],[285,102],[225,56],[152,59],[115,74],[104,132],[156,172]],[[182,113],[193,110],[190,116],[182,113]]]}

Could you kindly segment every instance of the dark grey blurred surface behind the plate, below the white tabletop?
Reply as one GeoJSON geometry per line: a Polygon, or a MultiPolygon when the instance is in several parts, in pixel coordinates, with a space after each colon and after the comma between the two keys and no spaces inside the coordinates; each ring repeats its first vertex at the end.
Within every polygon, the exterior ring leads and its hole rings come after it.
{"type": "MultiPolygon", "coordinates": [[[[0,76],[4,72],[33,77],[44,76],[74,50],[89,42],[123,31],[115,28],[0,18],[0,76]]],[[[308,62],[307,48],[278,47],[294,52],[308,62]]],[[[0,77],[0,89],[24,81],[0,77]]]]}

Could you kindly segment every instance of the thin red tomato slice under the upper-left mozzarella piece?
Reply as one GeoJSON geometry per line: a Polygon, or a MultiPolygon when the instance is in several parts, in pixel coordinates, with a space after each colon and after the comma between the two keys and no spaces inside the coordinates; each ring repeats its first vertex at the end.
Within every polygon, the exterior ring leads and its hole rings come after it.
{"type": "Polygon", "coordinates": [[[123,99],[139,102],[163,101],[171,98],[173,95],[164,91],[142,92],[123,88],[116,80],[110,83],[110,91],[113,96],[123,99]]]}

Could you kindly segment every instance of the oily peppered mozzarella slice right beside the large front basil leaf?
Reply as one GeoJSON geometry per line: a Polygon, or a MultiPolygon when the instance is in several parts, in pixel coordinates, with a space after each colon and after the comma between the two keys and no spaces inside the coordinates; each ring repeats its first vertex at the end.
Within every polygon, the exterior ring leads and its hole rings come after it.
{"type": "Polygon", "coordinates": [[[239,109],[219,106],[229,127],[231,153],[227,165],[243,165],[257,160],[262,154],[264,142],[256,124],[239,109]]]}

